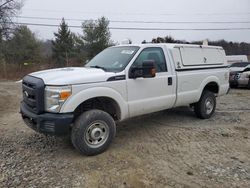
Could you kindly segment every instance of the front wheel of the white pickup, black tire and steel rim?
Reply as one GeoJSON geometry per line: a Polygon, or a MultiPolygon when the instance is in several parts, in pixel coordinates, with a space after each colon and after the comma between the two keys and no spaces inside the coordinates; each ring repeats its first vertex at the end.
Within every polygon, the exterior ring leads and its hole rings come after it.
{"type": "Polygon", "coordinates": [[[76,119],[71,132],[71,141],[81,154],[91,156],[104,152],[115,134],[115,122],[108,113],[90,110],[76,119]]]}

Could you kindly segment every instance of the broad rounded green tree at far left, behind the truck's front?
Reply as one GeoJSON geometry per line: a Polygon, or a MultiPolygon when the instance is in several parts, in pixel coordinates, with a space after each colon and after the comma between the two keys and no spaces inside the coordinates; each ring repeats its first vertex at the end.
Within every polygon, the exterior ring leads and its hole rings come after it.
{"type": "Polygon", "coordinates": [[[5,41],[5,60],[7,63],[39,63],[41,61],[41,42],[27,26],[18,26],[10,39],[5,41]]]}

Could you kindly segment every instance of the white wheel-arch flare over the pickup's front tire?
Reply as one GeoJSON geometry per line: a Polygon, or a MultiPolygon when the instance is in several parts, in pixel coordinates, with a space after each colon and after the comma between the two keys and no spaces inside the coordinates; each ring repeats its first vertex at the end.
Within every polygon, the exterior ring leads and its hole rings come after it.
{"type": "Polygon", "coordinates": [[[95,97],[109,97],[117,102],[121,111],[121,120],[128,117],[128,106],[123,97],[114,89],[107,87],[95,87],[84,89],[72,95],[62,106],[61,113],[74,112],[84,101],[95,97]]]}

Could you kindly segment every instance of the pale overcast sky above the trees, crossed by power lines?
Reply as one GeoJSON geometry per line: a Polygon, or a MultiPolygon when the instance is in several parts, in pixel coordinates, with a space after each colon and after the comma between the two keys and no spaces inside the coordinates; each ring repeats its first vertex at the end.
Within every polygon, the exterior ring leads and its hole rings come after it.
{"type": "MultiPolygon", "coordinates": [[[[19,23],[58,25],[60,24],[60,19],[64,17],[68,25],[80,26],[81,21],[76,21],[75,19],[98,19],[101,16],[105,16],[110,20],[110,27],[122,28],[250,28],[250,0],[25,0],[24,6],[16,21],[19,23]],[[43,19],[37,19],[34,17],[40,17],[43,19]],[[47,18],[58,19],[48,20],[47,18]]],[[[58,29],[57,27],[42,26],[29,26],[29,28],[35,32],[40,39],[43,40],[53,39],[53,33],[58,29]]],[[[70,28],[70,30],[81,34],[80,28],[70,28]]],[[[170,35],[175,39],[186,41],[225,39],[235,42],[250,42],[250,29],[209,31],[111,29],[110,31],[112,34],[112,40],[118,43],[127,38],[131,39],[133,43],[141,43],[143,40],[151,41],[152,38],[165,37],[167,35],[170,35]]]]}

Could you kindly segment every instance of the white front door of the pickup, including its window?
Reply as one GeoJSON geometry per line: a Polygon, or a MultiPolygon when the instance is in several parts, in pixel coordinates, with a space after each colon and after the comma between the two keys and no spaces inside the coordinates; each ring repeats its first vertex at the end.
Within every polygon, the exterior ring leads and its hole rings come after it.
{"type": "Polygon", "coordinates": [[[154,60],[156,76],[153,78],[127,79],[128,105],[130,117],[173,107],[176,99],[176,77],[166,62],[164,51],[161,47],[145,48],[131,65],[141,67],[145,60],[154,60]]]}

